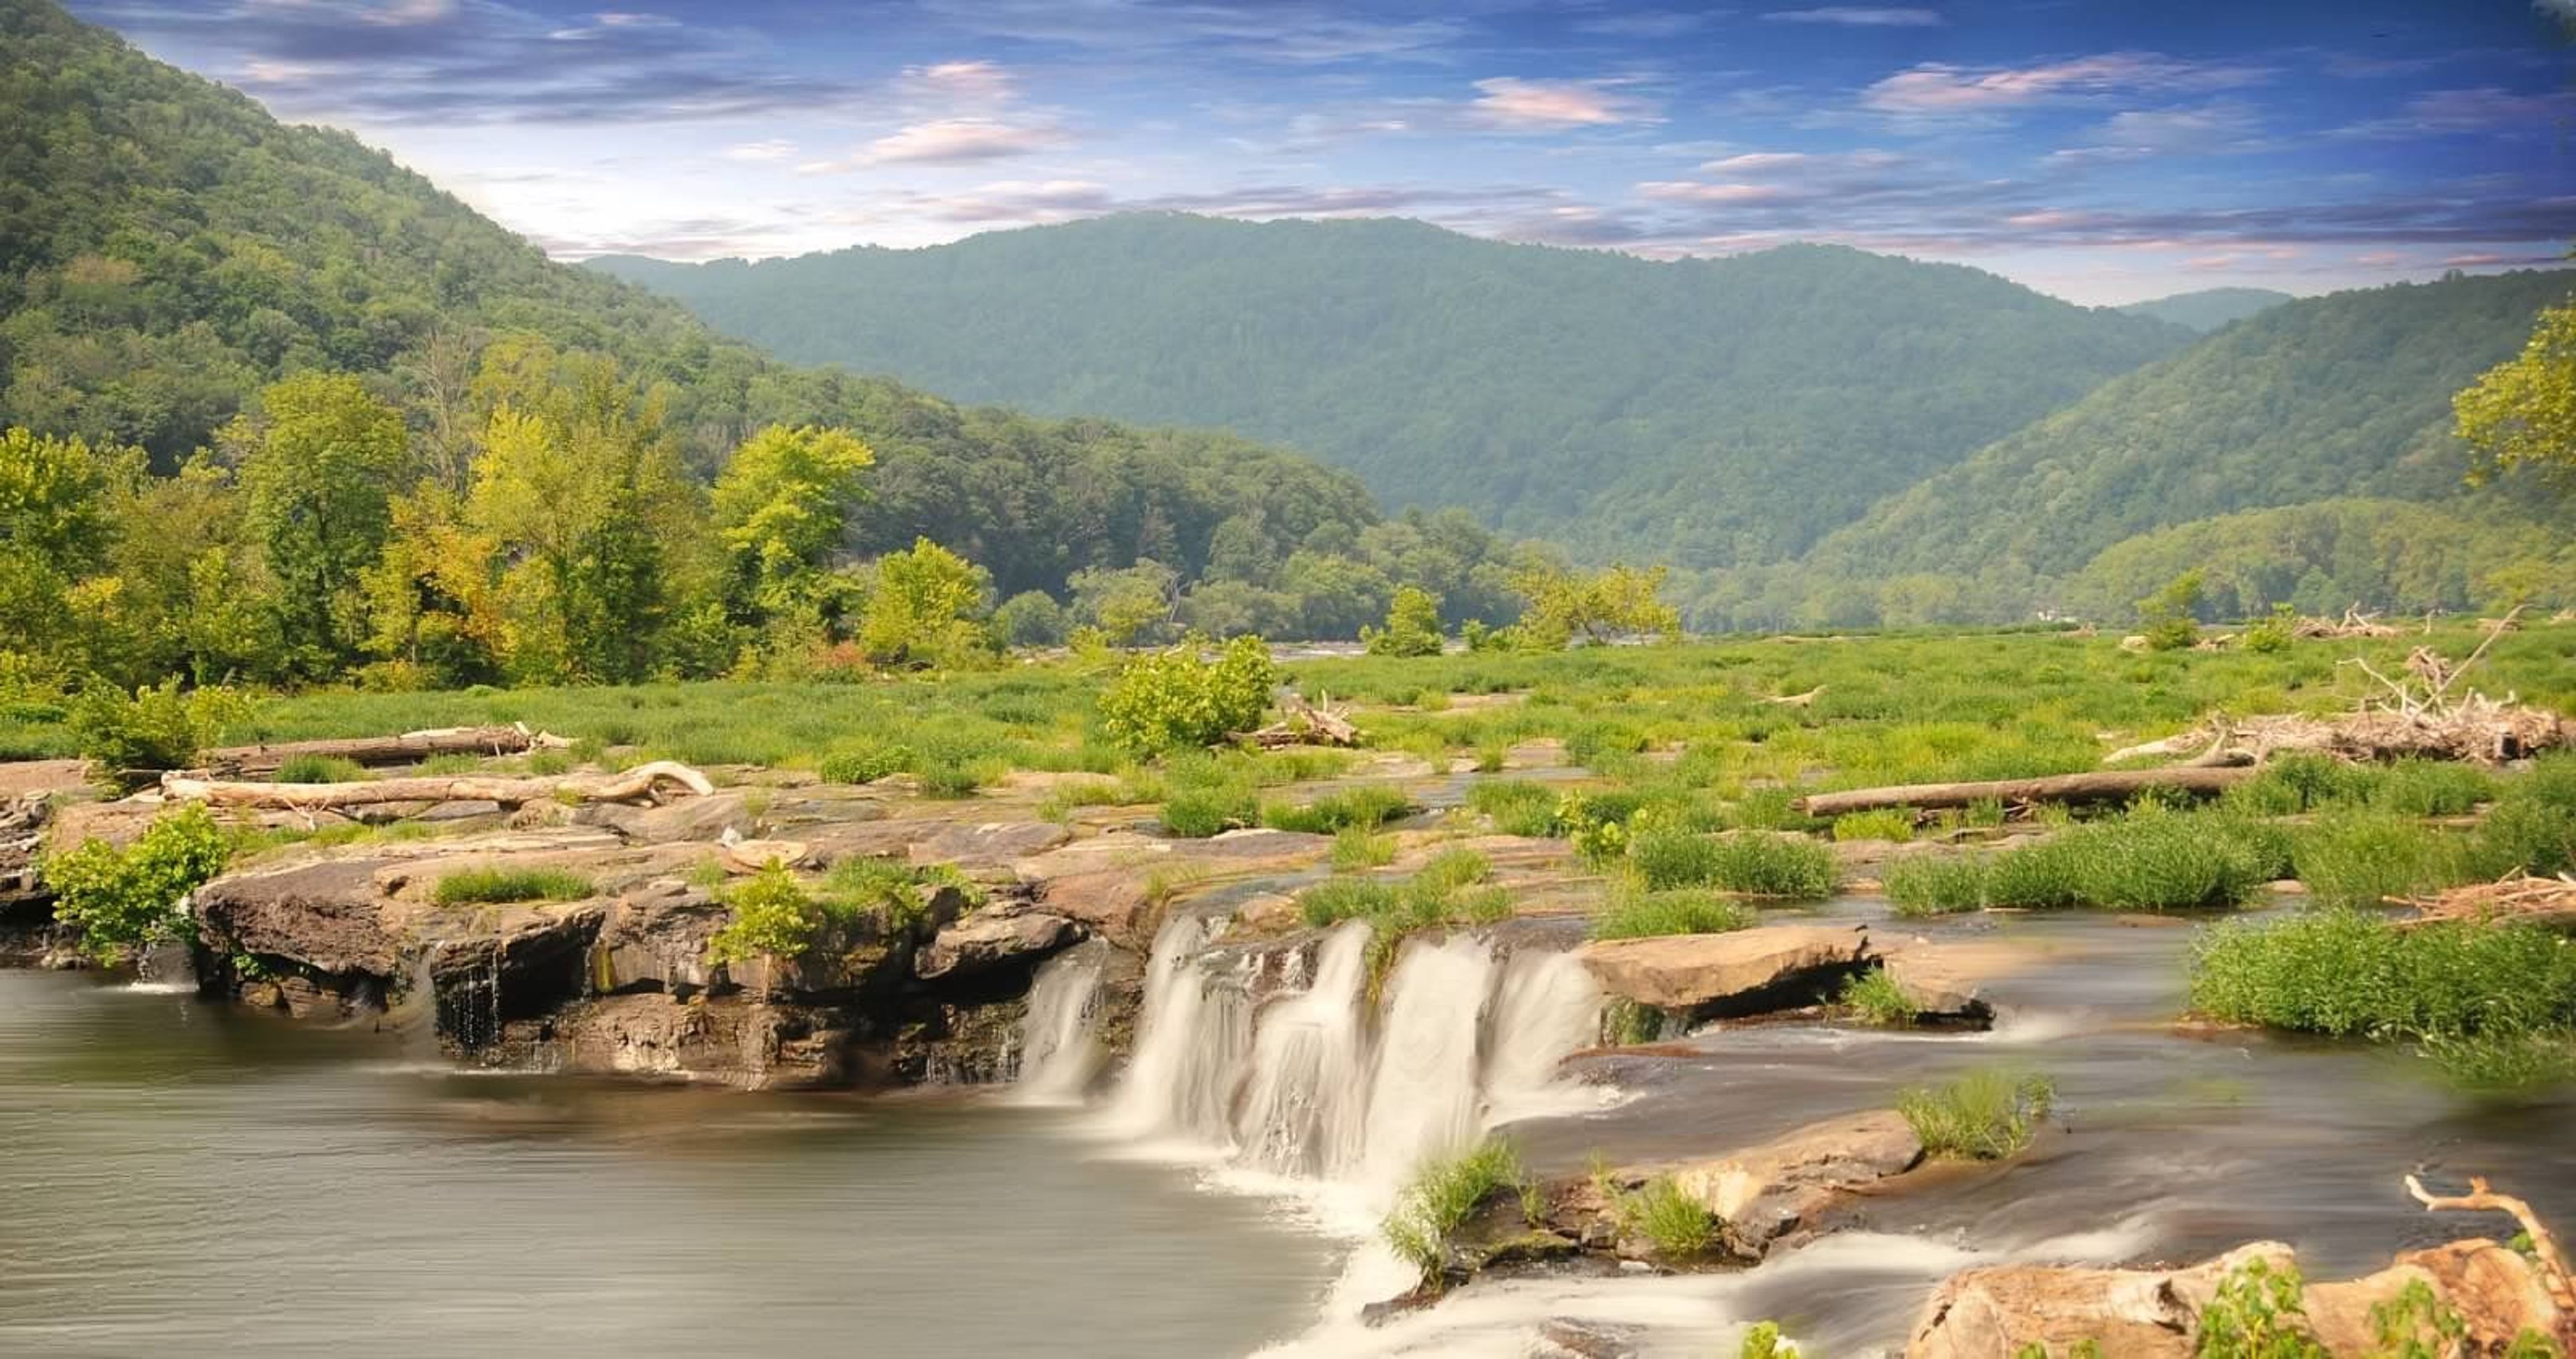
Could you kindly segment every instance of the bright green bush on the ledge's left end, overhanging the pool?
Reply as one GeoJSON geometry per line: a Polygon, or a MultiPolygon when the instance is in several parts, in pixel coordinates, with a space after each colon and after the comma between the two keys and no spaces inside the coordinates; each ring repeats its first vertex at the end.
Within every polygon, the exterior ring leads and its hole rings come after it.
{"type": "Polygon", "coordinates": [[[80,929],[80,947],[106,963],[126,950],[193,939],[180,901],[224,873],[229,857],[214,816],[188,806],[152,821],[129,849],[90,839],[46,857],[39,875],[54,891],[54,919],[80,929]]]}

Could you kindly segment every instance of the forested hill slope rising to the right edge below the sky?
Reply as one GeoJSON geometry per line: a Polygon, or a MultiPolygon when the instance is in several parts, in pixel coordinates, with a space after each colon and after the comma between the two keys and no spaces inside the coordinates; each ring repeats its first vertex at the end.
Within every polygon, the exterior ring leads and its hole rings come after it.
{"type": "Polygon", "coordinates": [[[1808,569],[2058,579],[2192,520],[2455,499],[2468,453],[2450,435],[2452,394],[2571,291],[2576,273],[2527,270],[2280,304],[1891,497],[1808,569]]]}

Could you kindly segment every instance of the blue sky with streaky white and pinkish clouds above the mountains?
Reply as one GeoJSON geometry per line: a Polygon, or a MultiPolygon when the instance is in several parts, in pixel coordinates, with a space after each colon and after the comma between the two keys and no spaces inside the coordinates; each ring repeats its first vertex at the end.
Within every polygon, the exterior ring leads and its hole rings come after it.
{"type": "Polygon", "coordinates": [[[1180,208],[2084,304],[2555,263],[2576,0],[70,0],[559,257],[1180,208]]]}

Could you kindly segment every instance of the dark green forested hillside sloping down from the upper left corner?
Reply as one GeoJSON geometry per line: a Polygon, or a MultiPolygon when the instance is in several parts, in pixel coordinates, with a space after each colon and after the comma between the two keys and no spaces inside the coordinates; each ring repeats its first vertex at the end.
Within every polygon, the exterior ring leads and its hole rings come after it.
{"type": "Polygon", "coordinates": [[[363,373],[425,425],[435,389],[453,396],[507,332],[662,384],[701,471],[768,422],[858,430],[878,466],[848,546],[930,535],[1005,592],[1136,556],[1195,577],[1218,525],[1236,561],[1270,564],[1378,522],[1347,474],[1231,435],[788,368],[546,260],[348,134],[283,126],[49,0],[0,0],[0,425],[139,443],[167,466],[307,368],[363,373]]]}

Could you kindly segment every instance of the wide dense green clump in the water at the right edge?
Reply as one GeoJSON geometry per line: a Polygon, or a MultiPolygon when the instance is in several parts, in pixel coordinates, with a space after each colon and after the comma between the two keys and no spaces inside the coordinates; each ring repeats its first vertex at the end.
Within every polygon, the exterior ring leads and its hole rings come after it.
{"type": "Polygon", "coordinates": [[[2192,942],[2192,1009],[2318,1035],[2532,1035],[2576,1024],[2576,947],[2530,924],[2396,929],[2365,911],[2226,921],[2192,942]]]}

